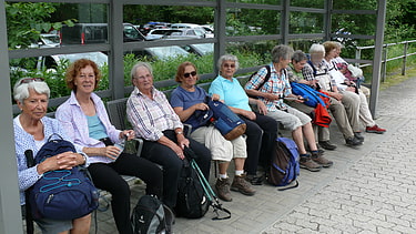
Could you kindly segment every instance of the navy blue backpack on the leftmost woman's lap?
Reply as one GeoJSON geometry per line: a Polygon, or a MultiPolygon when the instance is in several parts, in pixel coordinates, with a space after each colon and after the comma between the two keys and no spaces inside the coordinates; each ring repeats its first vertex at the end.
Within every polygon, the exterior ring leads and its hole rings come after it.
{"type": "MultiPolygon", "coordinates": [[[[58,134],[52,134],[39,150],[34,163],[72,151],[75,147],[58,134]],[[57,135],[58,139],[52,140],[57,135]]],[[[29,191],[33,218],[74,220],[93,212],[99,206],[99,191],[88,177],[87,169],[55,170],[43,173],[29,191]]]]}

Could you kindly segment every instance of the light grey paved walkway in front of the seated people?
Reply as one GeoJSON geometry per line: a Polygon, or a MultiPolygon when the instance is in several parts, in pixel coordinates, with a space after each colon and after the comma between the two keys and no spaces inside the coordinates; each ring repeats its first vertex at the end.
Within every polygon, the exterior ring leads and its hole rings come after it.
{"type": "MultiPolygon", "coordinates": [[[[416,233],[414,88],[416,78],[381,93],[377,123],[387,132],[366,133],[358,149],[345,146],[333,124],[338,149],[326,152],[333,167],[301,170],[300,186],[288,191],[261,185],[254,196],[232,192],[233,202],[222,202],[230,220],[212,221],[211,208],[200,220],[176,218],[174,233],[416,233]]],[[[143,186],[132,192],[134,205],[143,186]]],[[[98,233],[116,233],[111,211],[98,212],[98,233]]]]}

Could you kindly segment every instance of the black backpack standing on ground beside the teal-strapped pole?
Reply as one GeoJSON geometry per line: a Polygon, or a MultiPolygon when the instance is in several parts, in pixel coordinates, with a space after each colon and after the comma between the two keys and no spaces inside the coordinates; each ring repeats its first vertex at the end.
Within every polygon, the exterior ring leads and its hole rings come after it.
{"type": "Polygon", "coordinates": [[[210,204],[195,170],[189,160],[184,159],[177,184],[176,216],[202,217],[207,212],[210,204]]]}

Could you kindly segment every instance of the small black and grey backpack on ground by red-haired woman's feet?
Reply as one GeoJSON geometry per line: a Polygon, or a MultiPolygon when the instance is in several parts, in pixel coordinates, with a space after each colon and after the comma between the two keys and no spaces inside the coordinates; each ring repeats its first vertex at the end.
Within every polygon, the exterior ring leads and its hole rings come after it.
{"type": "Polygon", "coordinates": [[[143,195],[131,215],[133,232],[134,234],[171,233],[173,216],[172,211],[159,199],[143,195]]]}

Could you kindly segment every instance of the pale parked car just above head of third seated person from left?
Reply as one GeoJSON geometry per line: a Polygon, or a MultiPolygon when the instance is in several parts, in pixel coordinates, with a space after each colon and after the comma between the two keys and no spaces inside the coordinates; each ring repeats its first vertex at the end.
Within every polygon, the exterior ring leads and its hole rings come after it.
{"type": "Polygon", "coordinates": [[[139,59],[146,57],[151,60],[168,60],[176,57],[187,57],[190,53],[177,45],[143,48],[131,51],[139,59]]]}

